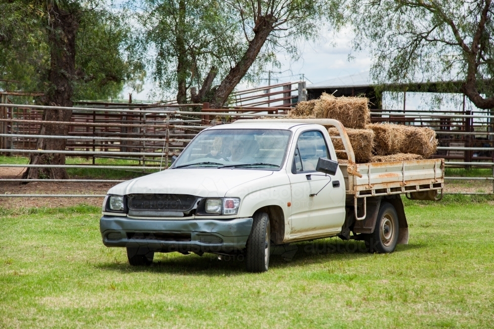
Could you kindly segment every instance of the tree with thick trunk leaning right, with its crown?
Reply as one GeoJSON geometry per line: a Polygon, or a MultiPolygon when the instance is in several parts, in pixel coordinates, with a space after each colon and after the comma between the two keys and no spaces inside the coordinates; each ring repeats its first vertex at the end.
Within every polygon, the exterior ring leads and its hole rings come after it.
{"type": "Polygon", "coordinates": [[[221,107],[244,78],[257,57],[271,57],[280,49],[297,53],[300,40],[318,38],[325,21],[338,22],[340,1],[333,0],[225,0],[229,14],[241,31],[241,54],[213,95],[213,106],[221,107]]]}

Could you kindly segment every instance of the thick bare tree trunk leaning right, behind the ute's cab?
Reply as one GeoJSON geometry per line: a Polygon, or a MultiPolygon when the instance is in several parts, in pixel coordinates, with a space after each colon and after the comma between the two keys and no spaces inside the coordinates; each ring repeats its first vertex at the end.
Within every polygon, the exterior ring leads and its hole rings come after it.
{"type": "Polygon", "coordinates": [[[228,75],[221,81],[218,89],[214,93],[212,108],[221,108],[228,96],[230,96],[233,89],[239,84],[240,80],[247,73],[248,69],[254,63],[257,55],[261,51],[262,46],[266,42],[269,34],[273,31],[273,21],[272,17],[260,16],[257,19],[254,28],[254,38],[249,41],[249,45],[246,53],[242,56],[241,60],[235,65],[235,67],[230,69],[228,75]]]}

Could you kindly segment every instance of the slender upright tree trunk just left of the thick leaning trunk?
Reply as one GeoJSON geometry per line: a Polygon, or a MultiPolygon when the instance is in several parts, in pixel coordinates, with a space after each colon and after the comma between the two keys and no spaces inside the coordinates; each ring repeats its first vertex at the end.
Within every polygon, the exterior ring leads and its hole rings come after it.
{"type": "Polygon", "coordinates": [[[187,50],[185,48],[185,0],[178,2],[178,21],[176,26],[176,51],[177,51],[177,103],[187,104],[187,75],[189,74],[189,63],[187,50]]]}

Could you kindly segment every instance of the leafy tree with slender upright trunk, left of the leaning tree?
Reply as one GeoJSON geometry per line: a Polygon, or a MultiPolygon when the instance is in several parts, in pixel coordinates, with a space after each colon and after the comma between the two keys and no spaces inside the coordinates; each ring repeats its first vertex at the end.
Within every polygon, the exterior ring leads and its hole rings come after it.
{"type": "Polygon", "coordinates": [[[136,12],[143,49],[152,54],[148,66],[159,87],[176,90],[181,104],[187,103],[191,87],[201,88],[199,94],[204,96],[224,69],[227,49],[222,40],[235,41],[235,22],[225,15],[224,4],[217,0],[132,0],[128,7],[136,12]]]}

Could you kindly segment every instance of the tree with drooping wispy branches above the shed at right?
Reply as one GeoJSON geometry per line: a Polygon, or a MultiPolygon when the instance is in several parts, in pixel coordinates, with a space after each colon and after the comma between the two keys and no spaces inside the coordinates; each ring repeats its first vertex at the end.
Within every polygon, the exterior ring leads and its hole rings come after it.
{"type": "Polygon", "coordinates": [[[346,8],[377,81],[459,84],[478,108],[494,108],[491,0],[350,0],[346,8]]]}

